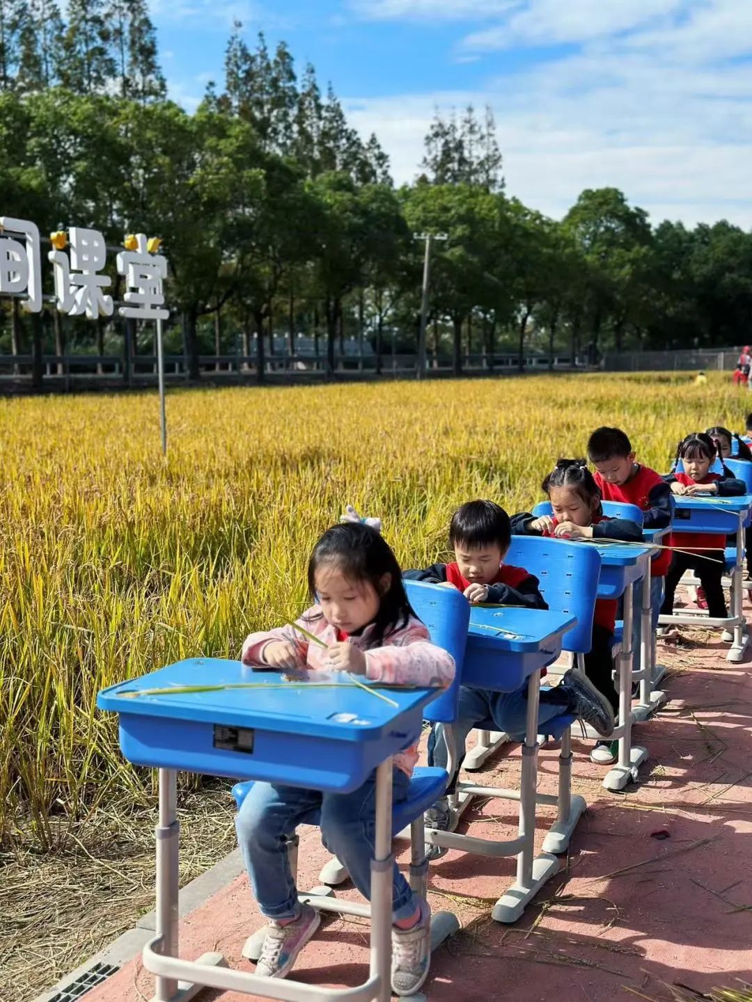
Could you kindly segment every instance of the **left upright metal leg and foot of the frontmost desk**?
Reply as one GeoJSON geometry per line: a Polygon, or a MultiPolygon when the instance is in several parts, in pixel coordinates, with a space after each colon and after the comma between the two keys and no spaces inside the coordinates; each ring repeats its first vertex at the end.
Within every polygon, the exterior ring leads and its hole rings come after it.
{"type": "MultiPolygon", "coordinates": [[[[159,823],[156,836],[156,936],[161,937],[161,954],[177,957],[177,895],[179,889],[179,833],[177,822],[177,774],[159,770],[159,823]]],[[[221,953],[205,953],[198,963],[227,967],[221,953]]],[[[204,988],[185,981],[156,976],[152,1002],[189,1002],[204,988]]]]}

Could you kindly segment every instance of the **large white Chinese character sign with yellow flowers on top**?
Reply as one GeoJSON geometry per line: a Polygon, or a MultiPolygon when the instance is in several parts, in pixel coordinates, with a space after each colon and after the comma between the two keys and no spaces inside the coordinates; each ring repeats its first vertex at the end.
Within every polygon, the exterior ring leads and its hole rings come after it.
{"type": "MultiPolygon", "coordinates": [[[[107,262],[107,247],[98,229],[71,226],[50,235],[55,306],[69,317],[111,317],[112,297],[106,290],[108,276],[100,274],[107,262]]],[[[164,307],[163,283],[167,261],[156,252],[159,240],[143,233],[126,236],[117,255],[117,272],[125,279],[124,306],[118,314],[135,320],[161,321],[169,317],[164,307]]],[[[33,222],[0,215],[0,295],[21,299],[29,313],[42,309],[42,274],[39,229],[33,222]],[[25,298],[24,298],[25,297],[25,298]]]]}

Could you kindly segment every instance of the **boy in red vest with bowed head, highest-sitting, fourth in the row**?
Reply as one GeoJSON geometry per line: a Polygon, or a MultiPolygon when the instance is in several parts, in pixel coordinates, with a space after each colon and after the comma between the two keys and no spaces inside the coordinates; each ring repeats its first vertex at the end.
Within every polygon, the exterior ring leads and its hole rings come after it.
{"type": "MultiPolygon", "coordinates": [[[[598,428],[588,442],[588,458],[596,467],[596,484],[604,501],[634,504],[645,512],[643,528],[665,529],[671,525],[671,488],[660,474],[635,460],[632,443],[619,428],[598,428]]],[[[653,630],[658,628],[665,595],[671,550],[662,550],[651,564],[650,604],[653,630]]],[[[635,588],[635,609],[643,604],[642,581],[635,588]]],[[[641,667],[641,621],[635,616],[632,629],[633,666],[641,667]]]]}

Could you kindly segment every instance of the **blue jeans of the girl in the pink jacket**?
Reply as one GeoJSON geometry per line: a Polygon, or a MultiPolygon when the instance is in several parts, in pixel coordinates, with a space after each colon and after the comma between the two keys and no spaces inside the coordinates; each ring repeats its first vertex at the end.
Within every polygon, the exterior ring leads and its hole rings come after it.
{"type": "MultiPolygon", "coordinates": [[[[392,798],[407,799],[410,781],[393,774],[392,798]]],[[[290,872],[286,839],[298,825],[319,825],[321,841],[347,867],[363,895],[371,894],[371,860],[375,852],[376,773],[352,794],[326,794],[271,783],[255,783],[235,819],[238,844],[259,908],[268,919],[292,919],[300,911],[290,872]]],[[[408,919],[417,907],[410,885],[394,864],[392,910],[395,922],[408,919]]]]}

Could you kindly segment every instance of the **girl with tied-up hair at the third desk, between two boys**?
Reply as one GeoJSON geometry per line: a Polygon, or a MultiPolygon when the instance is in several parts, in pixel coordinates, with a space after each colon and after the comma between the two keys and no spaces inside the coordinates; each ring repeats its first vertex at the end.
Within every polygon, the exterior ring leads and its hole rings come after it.
{"type": "MultiPolygon", "coordinates": [[[[552,515],[534,518],[528,512],[515,515],[511,531],[515,535],[555,536],[561,539],[618,539],[641,542],[643,532],[637,522],[626,518],[606,518],[601,507],[601,492],[585,459],[559,459],[543,480],[552,515]]],[[[619,693],[614,685],[614,630],[617,622],[616,599],[600,598],[593,620],[593,644],[585,655],[586,674],[619,712],[619,693]]],[[[591,760],[599,765],[617,761],[617,741],[599,741],[591,760]]]]}

